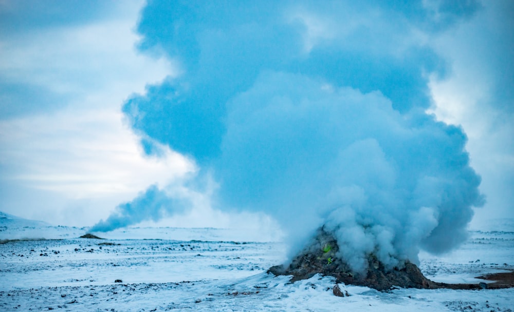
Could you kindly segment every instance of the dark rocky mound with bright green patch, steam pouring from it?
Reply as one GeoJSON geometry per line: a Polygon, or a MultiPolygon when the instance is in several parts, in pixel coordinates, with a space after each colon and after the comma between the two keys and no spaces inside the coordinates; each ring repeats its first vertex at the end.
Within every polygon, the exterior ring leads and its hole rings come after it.
{"type": "Polygon", "coordinates": [[[339,246],[334,236],[320,228],[311,244],[304,248],[286,267],[277,265],[268,272],[278,275],[291,275],[291,281],[308,279],[316,274],[333,276],[337,283],[368,286],[377,290],[390,290],[391,288],[452,288],[452,289],[481,289],[479,284],[445,284],[436,283],[427,279],[419,268],[410,262],[403,268],[386,270],[373,255],[368,258],[368,270],[365,274],[352,272],[350,266],[337,256],[339,246]]]}

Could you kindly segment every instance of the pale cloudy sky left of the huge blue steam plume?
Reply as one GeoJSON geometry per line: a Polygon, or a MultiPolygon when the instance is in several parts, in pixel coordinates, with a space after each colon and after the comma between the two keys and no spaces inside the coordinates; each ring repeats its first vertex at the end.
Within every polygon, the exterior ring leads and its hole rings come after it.
{"type": "Polygon", "coordinates": [[[144,135],[123,122],[128,95],[176,74],[173,60],[135,50],[142,4],[2,3],[0,210],[93,224],[141,189],[194,170],[166,146],[147,157],[144,135]],[[27,15],[38,18],[25,23],[27,15]]]}

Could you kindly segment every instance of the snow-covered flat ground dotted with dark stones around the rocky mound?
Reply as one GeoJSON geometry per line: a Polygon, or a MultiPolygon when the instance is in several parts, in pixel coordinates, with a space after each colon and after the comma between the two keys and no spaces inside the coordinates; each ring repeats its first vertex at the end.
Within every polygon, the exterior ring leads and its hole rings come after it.
{"type": "MultiPolygon", "coordinates": [[[[78,238],[83,228],[19,225],[4,220],[0,240],[52,240],[0,244],[3,311],[514,311],[512,288],[380,293],[341,285],[351,296],[336,297],[330,277],[289,283],[266,274],[284,260],[285,245],[241,231],[130,228],[91,240],[78,238]]],[[[514,268],[514,228],[473,231],[449,255],[420,256],[430,279],[476,282],[514,268]]]]}

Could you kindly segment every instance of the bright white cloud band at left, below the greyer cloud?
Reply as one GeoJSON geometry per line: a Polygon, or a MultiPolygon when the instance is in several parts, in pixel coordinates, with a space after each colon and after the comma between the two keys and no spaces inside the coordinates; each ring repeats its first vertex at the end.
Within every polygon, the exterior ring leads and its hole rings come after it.
{"type": "Polygon", "coordinates": [[[121,118],[116,110],[73,110],[3,122],[4,180],[68,198],[94,198],[135,193],[194,170],[167,147],[160,158],[143,157],[139,138],[121,118]]]}

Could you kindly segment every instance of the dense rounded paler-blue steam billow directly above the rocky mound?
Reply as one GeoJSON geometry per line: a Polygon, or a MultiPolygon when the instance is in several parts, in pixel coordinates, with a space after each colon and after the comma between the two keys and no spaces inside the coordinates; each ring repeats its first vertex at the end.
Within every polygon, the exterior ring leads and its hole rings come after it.
{"type": "Polygon", "coordinates": [[[402,115],[379,92],[283,73],[228,110],[215,167],[224,203],[264,210],[301,240],[326,224],[356,270],[371,253],[392,268],[467,238],[482,197],[460,129],[402,115]]]}

